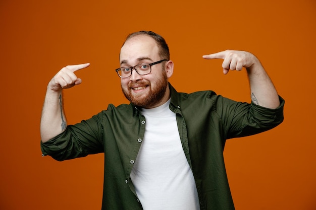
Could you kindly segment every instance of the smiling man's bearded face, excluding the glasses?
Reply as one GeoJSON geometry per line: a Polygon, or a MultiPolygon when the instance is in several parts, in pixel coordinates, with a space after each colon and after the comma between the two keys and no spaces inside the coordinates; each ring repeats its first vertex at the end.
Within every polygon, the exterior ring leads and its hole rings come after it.
{"type": "MultiPolygon", "coordinates": [[[[132,37],[121,48],[121,67],[152,63],[161,59],[155,40],[147,35],[132,37]]],[[[152,65],[148,75],[138,75],[134,69],[131,77],[121,78],[125,97],[134,105],[143,108],[164,104],[170,97],[165,63],[152,65]]]]}

